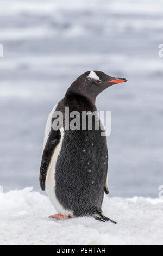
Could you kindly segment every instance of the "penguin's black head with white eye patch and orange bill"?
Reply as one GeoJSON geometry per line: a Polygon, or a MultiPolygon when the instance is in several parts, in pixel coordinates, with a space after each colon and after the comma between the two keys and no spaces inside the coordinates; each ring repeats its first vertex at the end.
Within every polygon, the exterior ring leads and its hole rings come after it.
{"type": "Polygon", "coordinates": [[[87,71],[71,84],[67,92],[83,95],[95,102],[97,95],[103,90],[126,81],[125,78],[112,77],[102,71],[87,71]]]}

